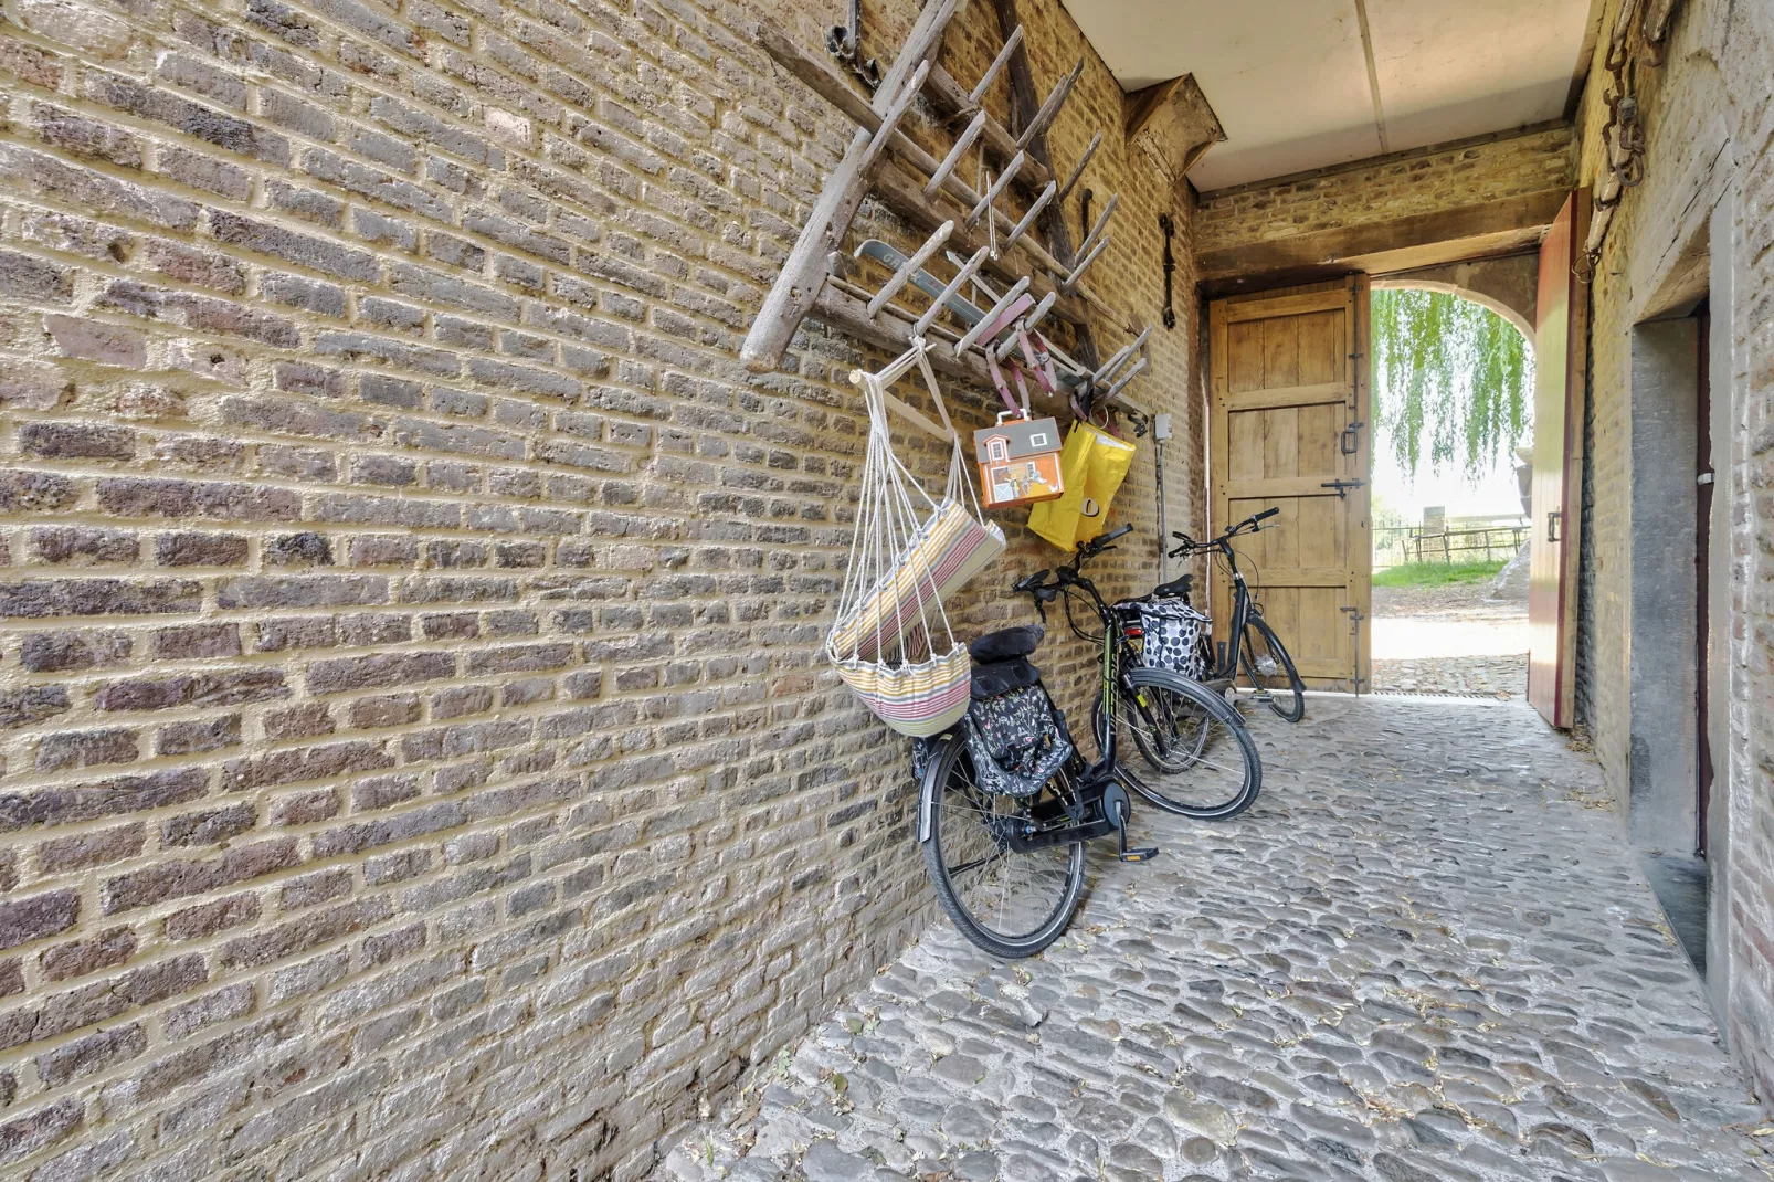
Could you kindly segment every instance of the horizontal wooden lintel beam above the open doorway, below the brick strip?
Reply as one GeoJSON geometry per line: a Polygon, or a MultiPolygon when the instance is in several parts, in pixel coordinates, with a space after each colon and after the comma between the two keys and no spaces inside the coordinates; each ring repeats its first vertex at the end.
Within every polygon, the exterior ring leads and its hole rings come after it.
{"type": "Polygon", "coordinates": [[[1197,256],[1197,275],[1201,282],[1213,284],[1222,279],[1270,272],[1299,273],[1339,264],[1348,270],[1346,264],[1352,259],[1387,252],[1414,250],[1435,243],[1520,236],[1550,225],[1568,195],[1570,190],[1554,188],[1433,213],[1414,213],[1389,222],[1219,247],[1197,256]]]}

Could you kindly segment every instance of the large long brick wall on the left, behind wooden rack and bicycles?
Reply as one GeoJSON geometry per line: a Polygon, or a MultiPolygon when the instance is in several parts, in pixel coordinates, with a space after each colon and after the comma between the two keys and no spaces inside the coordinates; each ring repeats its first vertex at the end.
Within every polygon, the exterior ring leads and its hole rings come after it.
{"type": "MultiPolygon", "coordinates": [[[[1045,89],[1084,41],[1024,7],[1045,89]]],[[[871,5],[869,51],[912,16],[871,5]]],[[[816,658],[867,359],[809,325],[782,373],[736,362],[850,133],[750,20],[5,7],[7,1177],[642,1177],[931,916],[905,744],[816,658]]],[[[990,5],[953,41],[972,78],[990,5]]],[[[1093,59],[1057,160],[1096,126],[1093,59]]],[[[1153,321],[1187,209],[1118,137],[1096,160],[1093,279],[1153,321]]],[[[1137,387],[1178,414],[1176,525],[1183,303],[1137,387]]],[[[1148,451],[1146,538],[1151,486],[1148,451]]],[[[1025,616],[1022,516],[963,632],[1025,616]]]]}

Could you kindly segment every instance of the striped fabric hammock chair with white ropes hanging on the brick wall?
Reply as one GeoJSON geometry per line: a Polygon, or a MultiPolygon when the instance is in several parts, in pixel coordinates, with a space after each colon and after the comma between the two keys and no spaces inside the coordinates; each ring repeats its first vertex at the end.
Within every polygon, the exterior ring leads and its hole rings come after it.
{"type": "Polygon", "coordinates": [[[869,438],[857,532],[825,655],[882,722],[901,735],[938,735],[967,713],[972,687],[967,646],[954,639],[942,600],[1004,552],[1004,531],[979,511],[962,437],[949,421],[922,337],[914,337],[912,348],[880,373],[853,371],[850,378],[862,387],[869,438]],[[889,392],[914,367],[951,442],[940,502],[894,454],[887,426],[887,410],[894,408],[938,433],[889,392]]]}

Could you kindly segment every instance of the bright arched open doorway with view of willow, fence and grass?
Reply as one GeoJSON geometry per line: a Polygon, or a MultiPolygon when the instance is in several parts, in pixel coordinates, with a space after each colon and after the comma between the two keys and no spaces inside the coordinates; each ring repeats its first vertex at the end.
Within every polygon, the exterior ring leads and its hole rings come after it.
{"type": "Polygon", "coordinates": [[[1481,279],[1504,298],[1430,275],[1375,280],[1378,692],[1527,689],[1535,256],[1481,279]]]}

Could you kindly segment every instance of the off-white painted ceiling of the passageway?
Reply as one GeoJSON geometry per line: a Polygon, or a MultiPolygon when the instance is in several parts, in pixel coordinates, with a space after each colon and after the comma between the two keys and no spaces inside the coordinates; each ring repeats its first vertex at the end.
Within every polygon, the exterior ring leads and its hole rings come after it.
{"type": "Polygon", "coordinates": [[[1064,5],[1125,91],[1196,76],[1226,128],[1189,172],[1210,192],[1561,117],[1591,0],[1064,5]]]}

